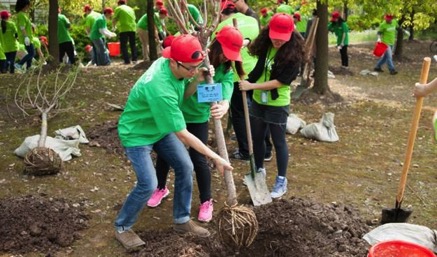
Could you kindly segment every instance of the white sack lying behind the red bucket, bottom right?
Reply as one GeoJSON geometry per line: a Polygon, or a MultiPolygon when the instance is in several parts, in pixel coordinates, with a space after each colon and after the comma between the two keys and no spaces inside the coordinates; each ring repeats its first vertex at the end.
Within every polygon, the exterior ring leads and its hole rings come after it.
{"type": "Polygon", "coordinates": [[[437,230],[409,223],[387,223],[363,236],[370,245],[387,240],[403,240],[422,245],[437,253],[437,230]]]}

